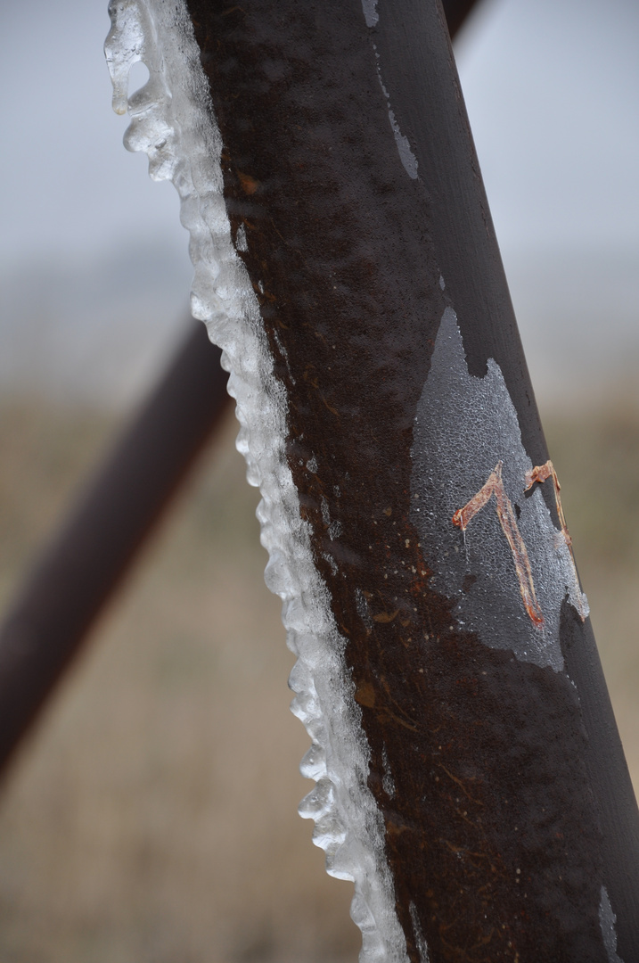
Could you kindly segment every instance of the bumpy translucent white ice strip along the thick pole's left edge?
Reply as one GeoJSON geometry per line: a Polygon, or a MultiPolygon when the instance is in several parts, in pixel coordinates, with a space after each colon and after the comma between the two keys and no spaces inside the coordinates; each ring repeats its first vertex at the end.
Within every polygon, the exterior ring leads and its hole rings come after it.
{"type": "MultiPolygon", "coordinates": [[[[288,645],[298,657],[290,680],[292,709],[313,741],[301,771],[317,786],[302,800],[300,815],[316,821],[314,840],[326,852],[327,871],[355,884],[351,916],[363,934],[362,963],[403,963],[406,943],[384,854],[383,820],[367,787],[371,753],[345,667],[345,640],[313,562],[286,460],[286,399],[273,376],[257,299],[232,243],[221,140],[192,22],[184,0],[115,0],[110,13],[106,55],[114,107],[124,113],[128,103],[131,114],[124,143],[148,154],[151,177],[172,180],[181,197],[195,268],[192,313],[223,350],[242,426],[237,446],[248,481],[262,492],[257,514],[269,553],[266,581],[283,599],[288,645]],[[127,102],[128,72],[139,60],[149,80],[127,102]]],[[[236,243],[242,250],[245,235],[236,243]]]]}

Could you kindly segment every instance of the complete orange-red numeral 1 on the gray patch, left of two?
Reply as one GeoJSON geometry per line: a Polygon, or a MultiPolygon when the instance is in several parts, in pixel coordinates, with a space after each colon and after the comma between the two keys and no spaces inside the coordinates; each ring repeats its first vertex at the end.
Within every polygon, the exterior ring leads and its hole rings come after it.
{"type": "Polygon", "coordinates": [[[515,512],[513,511],[510,499],[506,495],[506,489],[501,478],[502,467],[503,462],[498,461],[495,466],[495,471],[491,472],[488,480],[482,485],[476,495],[473,495],[473,498],[466,503],[464,508],[459,508],[454,513],[452,516],[452,524],[460,528],[462,532],[465,532],[469,522],[477,512],[481,511],[491,498],[495,496],[499,525],[501,526],[501,531],[506,536],[510,551],[513,555],[525,611],[530,616],[533,625],[541,629],[544,625],[544,615],[537,602],[530,560],[528,559],[524,539],[517,525],[515,512]]]}

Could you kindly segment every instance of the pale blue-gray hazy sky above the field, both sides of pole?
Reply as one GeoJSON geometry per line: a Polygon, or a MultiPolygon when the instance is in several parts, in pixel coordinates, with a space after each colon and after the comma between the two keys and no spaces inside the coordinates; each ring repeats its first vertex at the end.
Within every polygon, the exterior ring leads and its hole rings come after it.
{"type": "MultiPolygon", "coordinates": [[[[124,405],[187,304],[177,195],[122,147],[106,4],[0,16],[0,389],[124,405]]],[[[542,405],[634,385],[638,39],[633,0],[484,0],[456,47],[542,405]]]]}

